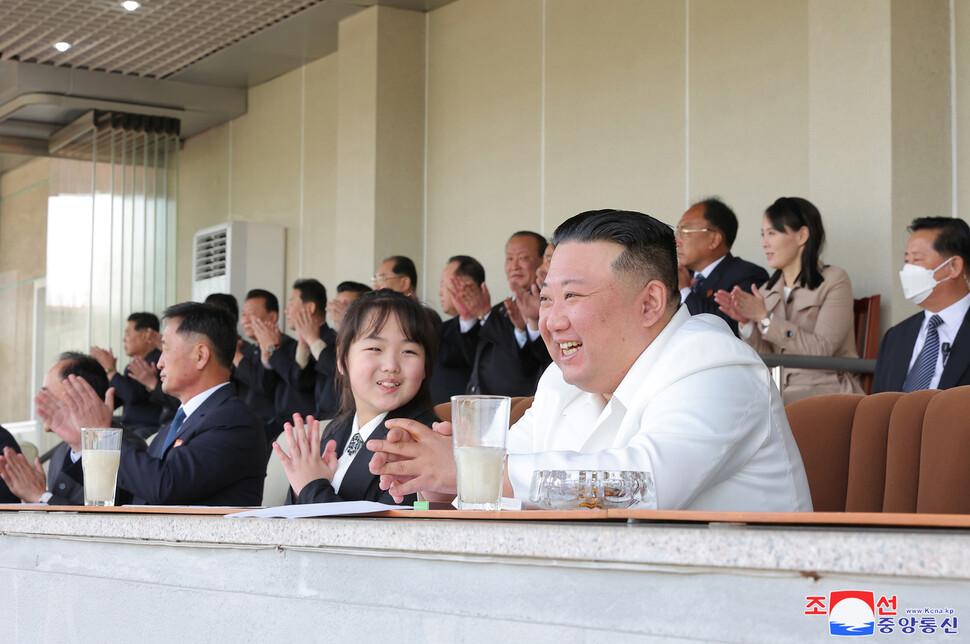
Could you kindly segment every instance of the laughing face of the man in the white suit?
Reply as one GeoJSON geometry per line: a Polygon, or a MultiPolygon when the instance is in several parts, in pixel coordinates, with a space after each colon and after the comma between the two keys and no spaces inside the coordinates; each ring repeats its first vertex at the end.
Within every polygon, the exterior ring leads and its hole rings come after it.
{"type": "Polygon", "coordinates": [[[622,250],[605,241],[560,244],[540,294],[539,331],[549,355],[566,382],[583,391],[612,394],[650,343],[645,289],[611,268],[622,250]]]}

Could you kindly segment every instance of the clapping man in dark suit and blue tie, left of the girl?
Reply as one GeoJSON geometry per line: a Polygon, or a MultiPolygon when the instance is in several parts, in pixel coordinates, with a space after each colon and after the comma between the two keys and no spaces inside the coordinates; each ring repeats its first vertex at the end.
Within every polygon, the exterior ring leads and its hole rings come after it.
{"type": "MultiPolygon", "coordinates": [[[[236,325],[224,310],[197,302],[171,306],[165,317],[158,362],[162,389],[181,406],[171,426],[162,428],[147,450],[122,442],[118,487],[130,492],[135,504],[259,505],[266,438],[229,384],[236,325]]],[[[68,386],[68,406],[75,418],[85,409],[99,413],[98,396],[87,382],[71,376],[68,386]]],[[[107,411],[110,417],[108,400],[100,405],[100,413],[107,411]]],[[[80,427],[62,437],[78,451],[80,427]]],[[[71,475],[83,484],[83,470],[71,475]]]]}

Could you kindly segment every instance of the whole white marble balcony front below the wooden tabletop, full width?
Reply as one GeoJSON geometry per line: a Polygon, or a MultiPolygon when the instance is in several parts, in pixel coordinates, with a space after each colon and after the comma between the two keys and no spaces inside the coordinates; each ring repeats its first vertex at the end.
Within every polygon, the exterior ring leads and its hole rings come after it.
{"type": "Polygon", "coordinates": [[[817,642],[828,620],[806,597],[834,590],[970,619],[968,546],[970,531],[0,512],[0,641],[817,642]]]}

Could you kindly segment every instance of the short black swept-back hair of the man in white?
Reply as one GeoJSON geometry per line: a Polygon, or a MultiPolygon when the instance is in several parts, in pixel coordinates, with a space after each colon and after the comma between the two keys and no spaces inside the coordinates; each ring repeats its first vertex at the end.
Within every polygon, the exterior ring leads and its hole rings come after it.
{"type": "Polygon", "coordinates": [[[623,246],[610,267],[614,273],[633,275],[641,288],[650,280],[660,280],[667,289],[667,306],[680,304],[673,228],[642,212],[588,210],[561,223],[552,236],[556,247],[565,242],[597,241],[623,246]]]}

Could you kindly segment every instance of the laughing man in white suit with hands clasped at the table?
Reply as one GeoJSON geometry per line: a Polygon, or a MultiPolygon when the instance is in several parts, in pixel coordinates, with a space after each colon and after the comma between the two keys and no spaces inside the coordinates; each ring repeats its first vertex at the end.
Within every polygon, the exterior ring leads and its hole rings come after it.
{"type": "MultiPolygon", "coordinates": [[[[670,227],[590,211],[553,243],[539,328],[555,364],[509,432],[505,494],[528,498],[539,469],[637,470],[652,473],[659,509],[810,511],[764,363],[723,320],[680,304],[670,227]]],[[[453,496],[448,424],[393,422],[403,431],[367,446],[382,485],[453,496]]]]}

